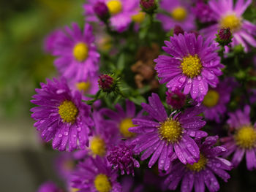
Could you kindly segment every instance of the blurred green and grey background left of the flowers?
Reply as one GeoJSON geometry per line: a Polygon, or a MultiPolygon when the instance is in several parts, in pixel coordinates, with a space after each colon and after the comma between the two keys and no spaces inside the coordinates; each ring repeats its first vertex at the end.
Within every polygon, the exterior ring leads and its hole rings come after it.
{"type": "Polygon", "coordinates": [[[43,51],[54,28],[83,22],[83,0],[0,0],[0,191],[34,192],[40,183],[61,185],[56,152],[37,137],[29,109],[34,88],[56,70],[43,51]]]}

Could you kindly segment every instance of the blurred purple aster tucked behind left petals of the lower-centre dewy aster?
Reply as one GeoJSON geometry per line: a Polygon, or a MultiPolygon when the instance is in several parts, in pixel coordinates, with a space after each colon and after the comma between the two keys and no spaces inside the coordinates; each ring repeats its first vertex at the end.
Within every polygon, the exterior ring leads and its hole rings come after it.
{"type": "Polygon", "coordinates": [[[143,111],[139,112],[137,115],[135,114],[136,107],[132,101],[126,101],[126,110],[123,110],[120,104],[116,104],[116,111],[110,109],[102,109],[103,115],[108,117],[106,120],[108,122],[108,126],[112,126],[119,131],[118,138],[132,139],[135,137],[135,134],[130,132],[128,128],[135,126],[132,123],[132,118],[142,118],[143,111]]]}

